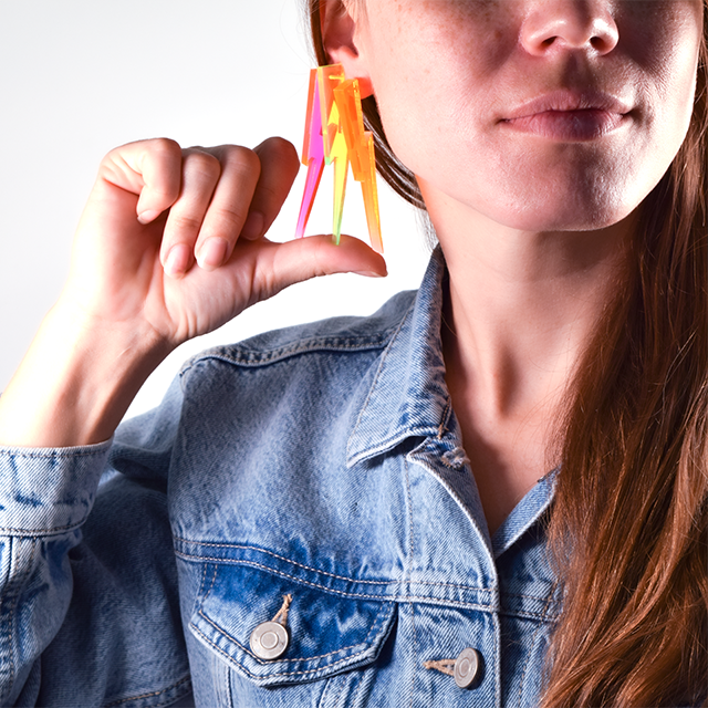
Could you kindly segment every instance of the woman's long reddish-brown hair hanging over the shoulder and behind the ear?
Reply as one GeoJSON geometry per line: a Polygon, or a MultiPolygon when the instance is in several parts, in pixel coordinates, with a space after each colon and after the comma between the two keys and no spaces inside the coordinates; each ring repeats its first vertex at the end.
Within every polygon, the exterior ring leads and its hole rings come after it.
{"type": "MultiPolygon", "coordinates": [[[[320,3],[308,0],[327,63],[320,3]]],[[[544,708],[708,708],[708,0],[689,132],[579,365],[549,540],[563,613],[544,708]],[[598,385],[602,382],[602,385],[598,385]]],[[[364,105],[382,177],[425,208],[364,105]]]]}

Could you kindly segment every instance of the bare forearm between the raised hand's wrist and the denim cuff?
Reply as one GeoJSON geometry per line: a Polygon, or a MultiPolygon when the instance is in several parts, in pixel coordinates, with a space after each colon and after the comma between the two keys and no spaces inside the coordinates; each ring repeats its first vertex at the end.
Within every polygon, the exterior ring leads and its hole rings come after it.
{"type": "Polygon", "coordinates": [[[71,447],[108,439],[169,348],[129,325],[82,326],[55,306],[0,397],[0,445],[71,447]]]}

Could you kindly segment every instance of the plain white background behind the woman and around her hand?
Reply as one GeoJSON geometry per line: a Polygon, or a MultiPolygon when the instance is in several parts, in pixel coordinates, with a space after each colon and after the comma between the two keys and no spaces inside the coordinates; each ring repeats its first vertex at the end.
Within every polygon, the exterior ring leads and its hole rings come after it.
{"type": "MultiPolygon", "coordinates": [[[[73,229],[101,157],[131,140],[301,149],[312,65],[300,0],[22,0],[0,4],[0,391],[65,278],[73,229]]],[[[304,168],[270,238],[292,237],[304,168]]],[[[367,314],[416,288],[428,248],[415,210],[379,179],[389,277],[295,285],[174,353],[132,413],[155,405],[192,352],[333,314],[367,314]]],[[[331,230],[323,178],[308,232],[331,230]]],[[[344,231],[367,231],[350,181],[344,231]]]]}

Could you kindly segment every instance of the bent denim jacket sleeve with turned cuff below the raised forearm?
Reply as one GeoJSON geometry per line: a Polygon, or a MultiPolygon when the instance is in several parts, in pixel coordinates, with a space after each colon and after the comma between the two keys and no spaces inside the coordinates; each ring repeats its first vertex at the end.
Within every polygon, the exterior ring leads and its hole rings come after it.
{"type": "Polygon", "coordinates": [[[178,388],[113,441],[0,448],[0,707],[190,694],[166,500],[178,388]]]}

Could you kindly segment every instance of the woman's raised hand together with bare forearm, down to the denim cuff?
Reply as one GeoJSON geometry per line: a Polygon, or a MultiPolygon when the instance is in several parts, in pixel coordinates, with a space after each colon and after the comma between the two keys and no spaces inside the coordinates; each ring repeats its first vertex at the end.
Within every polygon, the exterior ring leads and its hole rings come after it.
{"type": "Polygon", "coordinates": [[[254,150],[154,139],[110,153],[67,283],[0,397],[0,444],[105,440],[181,342],[314,275],[385,274],[381,256],[351,237],[263,238],[298,168],[279,138],[254,150]]]}

